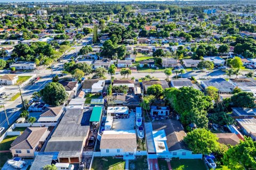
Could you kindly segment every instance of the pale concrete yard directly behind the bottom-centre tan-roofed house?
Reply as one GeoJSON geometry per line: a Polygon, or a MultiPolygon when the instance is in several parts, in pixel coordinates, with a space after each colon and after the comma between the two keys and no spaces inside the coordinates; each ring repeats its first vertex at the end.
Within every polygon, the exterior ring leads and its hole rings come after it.
{"type": "Polygon", "coordinates": [[[128,118],[115,118],[112,125],[113,130],[132,130],[135,129],[135,113],[129,113],[128,118]]]}

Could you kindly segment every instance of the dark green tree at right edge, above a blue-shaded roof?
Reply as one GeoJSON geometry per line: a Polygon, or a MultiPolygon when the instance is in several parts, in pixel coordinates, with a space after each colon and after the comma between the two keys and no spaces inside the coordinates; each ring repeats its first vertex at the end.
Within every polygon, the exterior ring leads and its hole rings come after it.
{"type": "Polygon", "coordinates": [[[231,103],[234,107],[247,107],[247,108],[254,108],[255,97],[253,96],[252,92],[238,92],[231,96],[231,103]]]}

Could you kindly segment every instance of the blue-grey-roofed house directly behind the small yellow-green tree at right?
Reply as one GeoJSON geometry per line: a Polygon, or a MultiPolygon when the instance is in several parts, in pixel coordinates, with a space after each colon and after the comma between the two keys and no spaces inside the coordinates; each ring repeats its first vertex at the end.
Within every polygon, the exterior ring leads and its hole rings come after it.
{"type": "Polygon", "coordinates": [[[201,86],[205,89],[209,86],[213,86],[219,89],[221,94],[231,94],[234,90],[234,86],[223,78],[215,78],[210,80],[202,80],[201,86]]]}

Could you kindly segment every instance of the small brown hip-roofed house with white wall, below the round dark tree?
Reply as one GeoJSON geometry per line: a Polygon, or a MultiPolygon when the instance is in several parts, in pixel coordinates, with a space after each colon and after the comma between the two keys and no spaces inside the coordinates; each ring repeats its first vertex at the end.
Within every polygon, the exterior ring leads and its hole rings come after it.
{"type": "Polygon", "coordinates": [[[58,122],[63,113],[65,113],[63,107],[46,107],[37,122],[58,122]]]}

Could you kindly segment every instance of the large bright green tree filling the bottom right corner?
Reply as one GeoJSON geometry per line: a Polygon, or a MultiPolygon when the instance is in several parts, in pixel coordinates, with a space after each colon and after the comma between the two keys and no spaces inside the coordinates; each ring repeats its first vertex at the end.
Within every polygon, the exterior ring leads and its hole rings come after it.
{"type": "Polygon", "coordinates": [[[256,168],[256,142],[250,137],[245,137],[236,146],[230,146],[223,156],[223,164],[230,169],[256,168]]]}

